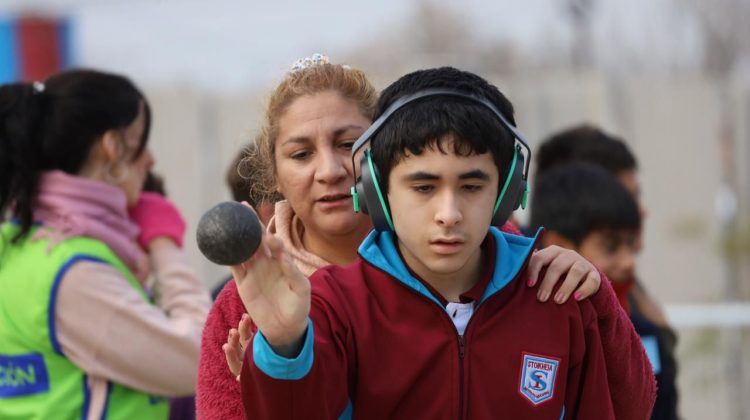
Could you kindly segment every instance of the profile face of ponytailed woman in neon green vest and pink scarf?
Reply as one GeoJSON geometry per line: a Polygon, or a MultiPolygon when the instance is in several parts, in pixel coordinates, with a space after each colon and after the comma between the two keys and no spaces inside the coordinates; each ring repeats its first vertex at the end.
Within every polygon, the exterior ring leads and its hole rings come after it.
{"type": "Polygon", "coordinates": [[[125,146],[125,153],[122,159],[124,176],[122,179],[117,180],[117,185],[125,191],[128,207],[138,202],[138,197],[143,190],[143,183],[146,180],[146,173],[154,166],[154,155],[151,154],[151,150],[148,147],[143,149],[141,154],[133,160],[133,156],[141,144],[145,124],[146,113],[143,104],[141,104],[136,119],[121,131],[122,142],[125,146]]]}

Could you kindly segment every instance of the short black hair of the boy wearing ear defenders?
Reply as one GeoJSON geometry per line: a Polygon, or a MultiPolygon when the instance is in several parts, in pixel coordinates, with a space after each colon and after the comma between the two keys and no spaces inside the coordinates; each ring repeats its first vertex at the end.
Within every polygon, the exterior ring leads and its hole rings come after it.
{"type": "MultiPolygon", "coordinates": [[[[375,119],[400,97],[429,88],[449,88],[486,98],[515,125],[513,105],[497,87],[476,74],[452,67],[419,70],[398,79],[380,94],[375,119]]],[[[442,140],[448,134],[455,137],[452,152],[459,156],[492,153],[500,168],[500,182],[505,180],[513,158],[513,134],[492,111],[470,99],[431,96],[399,109],[370,141],[383,193],[388,191],[393,166],[407,152],[419,155],[432,145],[446,152],[442,140]]]]}

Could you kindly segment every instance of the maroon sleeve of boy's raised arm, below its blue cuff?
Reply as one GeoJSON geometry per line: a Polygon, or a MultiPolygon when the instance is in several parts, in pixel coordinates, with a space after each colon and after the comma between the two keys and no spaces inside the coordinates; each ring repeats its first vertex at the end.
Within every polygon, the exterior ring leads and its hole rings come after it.
{"type": "MultiPolygon", "coordinates": [[[[318,272],[319,274],[320,272],[318,272]]],[[[247,351],[242,365],[242,399],[248,419],[292,420],[302,418],[339,418],[349,404],[347,355],[351,354],[348,328],[335,310],[319,295],[313,281],[310,328],[312,367],[300,378],[276,379],[264,373],[255,363],[258,334],[253,337],[253,351],[247,351]]],[[[322,283],[318,281],[318,283],[322,283]]],[[[301,354],[298,358],[304,358],[301,354]]]]}

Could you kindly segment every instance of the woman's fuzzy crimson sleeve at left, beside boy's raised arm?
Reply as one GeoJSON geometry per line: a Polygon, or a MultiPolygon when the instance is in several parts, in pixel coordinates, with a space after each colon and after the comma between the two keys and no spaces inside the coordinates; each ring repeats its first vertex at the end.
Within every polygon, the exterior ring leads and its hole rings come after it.
{"type": "Polygon", "coordinates": [[[230,281],[214,302],[203,328],[196,407],[199,419],[244,419],[240,384],[229,370],[221,346],[236,328],[245,307],[230,281]]]}

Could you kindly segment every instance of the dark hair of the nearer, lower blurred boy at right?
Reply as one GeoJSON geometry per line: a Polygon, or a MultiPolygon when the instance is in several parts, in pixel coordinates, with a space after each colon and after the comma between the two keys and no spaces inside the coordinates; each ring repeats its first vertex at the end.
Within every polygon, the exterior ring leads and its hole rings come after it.
{"type": "Polygon", "coordinates": [[[576,246],[597,230],[637,231],[641,215],[633,196],[601,166],[572,162],[537,176],[531,226],[557,232],[576,246]]]}

